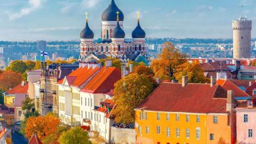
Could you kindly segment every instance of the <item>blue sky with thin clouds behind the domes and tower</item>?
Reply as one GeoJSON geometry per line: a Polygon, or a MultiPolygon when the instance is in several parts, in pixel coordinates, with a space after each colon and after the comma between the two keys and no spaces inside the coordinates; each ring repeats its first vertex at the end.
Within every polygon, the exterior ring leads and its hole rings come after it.
{"type": "MultiPolygon", "coordinates": [[[[89,26],[100,37],[101,14],[111,0],[0,0],[0,41],[77,40],[89,12],[89,26]]],[[[232,20],[244,5],[253,20],[255,0],[116,0],[125,15],[126,37],[140,24],[147,37],[232,38],[232,20]]]]}

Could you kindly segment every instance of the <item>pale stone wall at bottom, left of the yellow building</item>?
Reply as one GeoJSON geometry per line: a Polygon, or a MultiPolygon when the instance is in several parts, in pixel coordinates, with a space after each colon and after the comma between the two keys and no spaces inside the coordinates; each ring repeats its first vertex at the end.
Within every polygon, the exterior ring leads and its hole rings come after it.
{"type": "Polygon", "coordinates": [[[135,144],[136,132],[135,129],[111,127],[110,143],[129,143],[135,144]]]}

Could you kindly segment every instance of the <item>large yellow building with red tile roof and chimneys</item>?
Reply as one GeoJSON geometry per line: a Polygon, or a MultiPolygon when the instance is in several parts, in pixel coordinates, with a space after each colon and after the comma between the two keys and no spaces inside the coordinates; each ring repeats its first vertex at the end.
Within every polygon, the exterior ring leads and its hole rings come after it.
{"type": "Polygon", "coordinates": [[[137,143],[234,143],[232,103],[218,84],[162,83],[135,109],[137,143]]]}

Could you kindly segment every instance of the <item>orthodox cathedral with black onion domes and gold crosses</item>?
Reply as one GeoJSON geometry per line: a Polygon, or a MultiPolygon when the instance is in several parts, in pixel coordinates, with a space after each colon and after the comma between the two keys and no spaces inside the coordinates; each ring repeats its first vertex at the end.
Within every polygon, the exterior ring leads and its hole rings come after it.
{"type": "MultiPolygon", "coordinates": [[[[87,13],[85,14],[87,17],[87,13]]],[[[102,13],[101,40],[94,42],[94,33],[90,29],[86,18],[85,28],[80,33],[81,51],[79,61],[97,62],[103,58],[118,58],[121,62],[133,60],[145,62],[150,59],[146,54],[145,31],[140,27],[139,12],[137,27],[133,30],[133,42],[125,41],[123,31],[123,12],[118,9],[114,0],[102,13]]]]}

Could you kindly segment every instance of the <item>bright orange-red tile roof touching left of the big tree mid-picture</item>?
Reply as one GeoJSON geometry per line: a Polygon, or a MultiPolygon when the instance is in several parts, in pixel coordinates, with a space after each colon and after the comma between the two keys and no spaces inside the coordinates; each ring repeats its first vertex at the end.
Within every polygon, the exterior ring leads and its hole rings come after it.
{"type": "Polygon", "coordinates": [[[114,88],[114,83],[121,79],[121,71],[116,67],[102,67],[100,71],[86,84],[82,92],[105,93],[114,88]]]}

